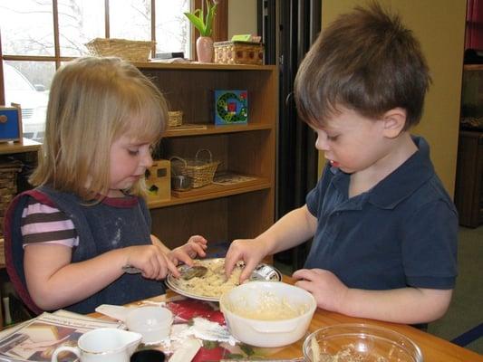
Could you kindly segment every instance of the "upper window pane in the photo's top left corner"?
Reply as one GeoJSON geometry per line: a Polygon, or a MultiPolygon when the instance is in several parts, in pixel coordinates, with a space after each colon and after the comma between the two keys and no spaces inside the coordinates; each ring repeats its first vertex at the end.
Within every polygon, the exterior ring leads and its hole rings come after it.
{"type": "Polygon", "coordinates": [[[2,1],[1,4],[4,54],[54,54],[52,0],[2,1]]]}

